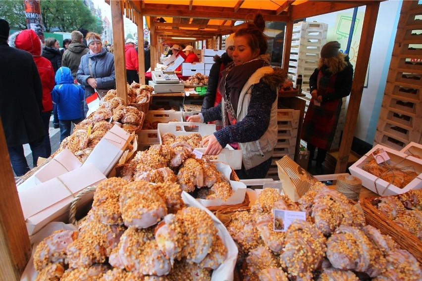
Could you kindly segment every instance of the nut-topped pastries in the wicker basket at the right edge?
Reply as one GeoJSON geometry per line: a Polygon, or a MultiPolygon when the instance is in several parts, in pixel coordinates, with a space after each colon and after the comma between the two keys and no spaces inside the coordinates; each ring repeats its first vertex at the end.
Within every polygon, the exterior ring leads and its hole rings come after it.
{"type": "Polygon", "coordinates": [[[381,197],[376,207],[381,214],[422,240],[422,189],[381,197]]]}

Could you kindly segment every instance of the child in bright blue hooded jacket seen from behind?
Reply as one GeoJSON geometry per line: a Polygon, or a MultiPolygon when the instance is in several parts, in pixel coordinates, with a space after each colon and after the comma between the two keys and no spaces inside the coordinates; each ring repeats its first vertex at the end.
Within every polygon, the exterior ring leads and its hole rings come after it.
{"type": "Polygon", "coordinates": [[[73,83],[70,68],[64,66],[55,73],[55,84],[52,99],[53,103],[57,104],[61,142],[70,136],[72,122],[78,124],[84,119],[84,90],[73,83]]]}

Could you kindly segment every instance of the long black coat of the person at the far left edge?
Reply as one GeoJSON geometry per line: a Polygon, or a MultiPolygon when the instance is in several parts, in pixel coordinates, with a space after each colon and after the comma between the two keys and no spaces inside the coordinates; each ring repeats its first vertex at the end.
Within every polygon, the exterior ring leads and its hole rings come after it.
{"type": "Polygon", "coordinates": [[[0,117],[7,146],[44,138],[43,88],[32,55],[0,41],[0,117]]]}

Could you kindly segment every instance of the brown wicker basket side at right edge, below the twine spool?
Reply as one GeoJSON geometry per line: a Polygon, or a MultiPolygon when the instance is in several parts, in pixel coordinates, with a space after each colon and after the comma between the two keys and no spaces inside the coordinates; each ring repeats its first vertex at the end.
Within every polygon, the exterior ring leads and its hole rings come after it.
{"type": "Polygon", "coordinates": [[[382,197],[364,198],[361,200],[361,206],[364,210],[367,223],[379,229],[382,234],[391,236],[402,249],[408,250],[422,263],[422,241],[406,229],[395,224],[384,214],[378,212],[375,206],[378,204],[380,198],[382,197]]]}

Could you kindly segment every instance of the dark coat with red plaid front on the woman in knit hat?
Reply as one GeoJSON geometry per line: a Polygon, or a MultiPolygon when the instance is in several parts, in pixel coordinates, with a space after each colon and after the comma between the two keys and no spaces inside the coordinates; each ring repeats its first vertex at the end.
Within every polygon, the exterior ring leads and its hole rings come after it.
{"type": "Polygon", "coordinates": [[[342,98],[350,94],[353,81],[353,66],[331,75],[323,66],[316,69],[310,78],[311,91],[317,89],[322,96],[320,106],[316,106],[314,98],[305,115],[302,140],[317,147],[329,150],[334,139],[342,98]]]}

